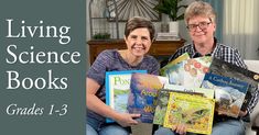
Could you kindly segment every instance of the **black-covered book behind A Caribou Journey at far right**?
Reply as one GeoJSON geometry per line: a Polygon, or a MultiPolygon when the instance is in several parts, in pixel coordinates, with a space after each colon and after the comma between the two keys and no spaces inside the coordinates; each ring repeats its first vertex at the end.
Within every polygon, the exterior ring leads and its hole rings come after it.
{"type": "MultiPolygon", "coordinates": [[[[220,76],[226,76],[226,77],[231,77],[238,80],[242,80],[249,83],[247,94],[245,97],[245,101],[242,103],[241,110],[246,111],[248,108],[251,108],[249,104],[256,102],[255,101],[255,95],[259,92],[259,74],[240,68],[236,65],[226,63],[222,59],[214,58],[212,61],[212,65],[209,67],[209,72],[220,75],[220,76]]],[[[252,109],[249,109],[252,111],[252,109]]]]}

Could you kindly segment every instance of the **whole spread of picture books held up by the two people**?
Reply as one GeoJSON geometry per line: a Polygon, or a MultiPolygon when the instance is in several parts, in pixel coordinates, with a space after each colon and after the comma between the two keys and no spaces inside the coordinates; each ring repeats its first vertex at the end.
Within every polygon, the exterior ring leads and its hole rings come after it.
{"type": "Polygon", "coordinates": [[[141,114],[136,120],[148,126],[185,124],[187,132],[211,134],[215,113],[238,117],[240,111],[251,113],[258,102],[258,72],[211,56],[183,54],[160,74],[107,72],[107,105],[117,112],[141,114]]]}

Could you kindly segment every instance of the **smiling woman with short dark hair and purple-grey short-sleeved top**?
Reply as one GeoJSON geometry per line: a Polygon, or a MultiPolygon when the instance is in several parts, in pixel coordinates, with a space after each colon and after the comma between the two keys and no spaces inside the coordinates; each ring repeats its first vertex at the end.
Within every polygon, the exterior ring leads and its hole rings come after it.
{"type": "MultiPolygon", "coordinates": [[[[154,38],[154,26],[150,20],[136,16],[126,23],[127,49],[108,49],[98,55],[86,78],[87,135],[128,135],[130,125],[140,114],[118,113],[105,104],[105,74],[112,70],[147,70],[159,75],[160,65],[147,53],[154,38]],[[106,123],[110,117],[116,123],[106,123]]],[[[128,99],[125,99],[128,100],[128,99]]]]}

